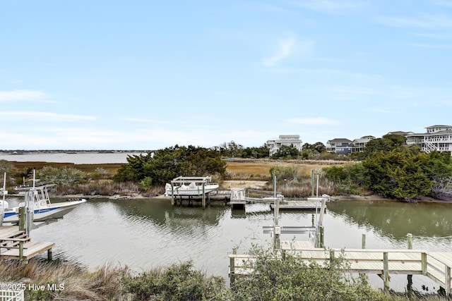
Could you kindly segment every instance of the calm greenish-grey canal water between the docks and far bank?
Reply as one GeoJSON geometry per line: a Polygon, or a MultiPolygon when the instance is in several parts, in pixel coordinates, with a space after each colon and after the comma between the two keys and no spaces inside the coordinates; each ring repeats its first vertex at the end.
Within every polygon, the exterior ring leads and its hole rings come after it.
{"type": "MultiPolygon", "coordinates": [[[[53,159],[49,161],[54,161],[53,159]]],[[[85,163],[85,162],[82,162],[85,163]]],[[[19,202],[8,198],[10,205],[19,202]]],[[[328,202],[323,224],[325,245],[360,248],[362,234],[367,248],[406,248],[407,234],[413,248],[452,252],[452,204],[391,201],[328,202]]],[[[316,216],[306,211],[281,211],[280,225],[311,226],[316,216]]],[[[90,199],[64,219],[32,230],[33,240],[53,241],[54,258],[76,262],[88,269],[105,263],[144,271],[191,260],[196,269],[227,279],[228,254],[239,254],[251,245],[271,247],[263,226],[273,224],[273,211],[265,204],[232,211],[227,205],[172,207],[170,199],[90,199]]],[[[282,240],[308,240],[308,235],[282,235],[282,240]]],[[[383,283],[370,275],[371,283],[383,283]]],[[[391,289],[405,291],[406,276],[391,275],[391,289]]],[[[439,287],[424,276],[413,276],[413,285],[429,291],[439,287]]]]}

